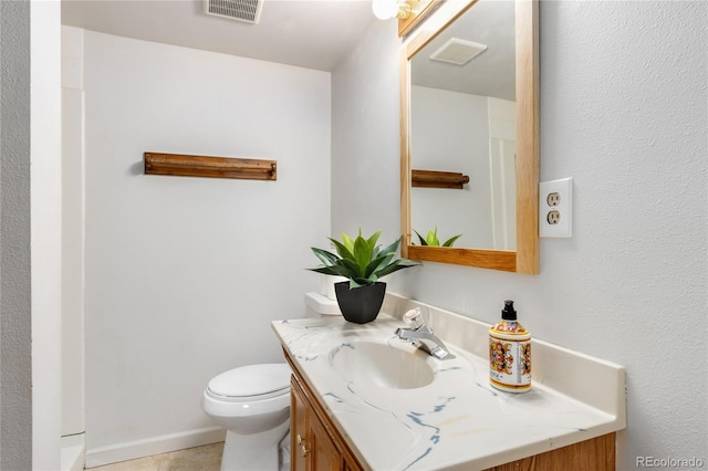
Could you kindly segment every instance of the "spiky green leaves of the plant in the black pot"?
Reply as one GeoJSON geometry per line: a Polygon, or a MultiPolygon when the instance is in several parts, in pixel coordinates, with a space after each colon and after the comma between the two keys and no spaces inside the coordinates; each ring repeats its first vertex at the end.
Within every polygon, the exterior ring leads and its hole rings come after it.
{"type": "Polygon", "coordinates": [[[355,239],[341,232],[341,242],[329,238],[334,244],[336,253],[314,247],[311,248],[323,266],[308,270],[344,276],[350,280],[350,290],[352,290],[375,283],[391,273],[418,264],[407,259],[395,258],[400,244],[400,238],[391,245],[379,249],[376,242],[381,232],[377,231],[367,239],[362,237],[361,229],[355,239]]]}

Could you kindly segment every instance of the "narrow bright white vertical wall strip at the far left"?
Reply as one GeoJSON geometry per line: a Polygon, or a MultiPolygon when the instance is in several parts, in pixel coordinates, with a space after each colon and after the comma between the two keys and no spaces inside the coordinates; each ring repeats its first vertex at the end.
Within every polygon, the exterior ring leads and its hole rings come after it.
{"type": "Polygon", "coordinates": [[[31,2],[32,469],[60,463],[61,8],[31,2]]]}

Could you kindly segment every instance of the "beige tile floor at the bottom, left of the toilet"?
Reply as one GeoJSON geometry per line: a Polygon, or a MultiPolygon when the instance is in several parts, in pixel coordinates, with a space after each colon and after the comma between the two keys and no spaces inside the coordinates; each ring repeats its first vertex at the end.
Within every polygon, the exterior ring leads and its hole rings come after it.
{"type": "Polygon", "coordinates": [[[219,471],[223,442],[122,461],[91,471],[219,471]]]}

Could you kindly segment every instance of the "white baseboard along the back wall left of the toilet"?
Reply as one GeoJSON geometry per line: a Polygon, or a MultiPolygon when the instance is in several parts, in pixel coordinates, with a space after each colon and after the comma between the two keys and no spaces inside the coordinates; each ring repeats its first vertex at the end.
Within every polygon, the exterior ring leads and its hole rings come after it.
{"type": "Polygon", "coordinates": [[[134,460],[153,454],[168,453],[186,448],[223,441],[226,431],[220,427],[169,433],[145,440],[128,441],[86,450],[86,468],[96,468],[118,461],[134,460]]]}

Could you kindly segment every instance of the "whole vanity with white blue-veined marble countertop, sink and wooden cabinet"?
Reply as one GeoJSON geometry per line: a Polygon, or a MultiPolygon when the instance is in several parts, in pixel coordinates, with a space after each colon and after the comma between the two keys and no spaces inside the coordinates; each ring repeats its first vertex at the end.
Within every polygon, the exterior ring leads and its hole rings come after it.
{"type": "Polygon", "coordinates": [[[618,365],[533,339],[533,386],[489,385],[489,325],[431,307],[455,357],[394,335],[418,303],[391,293],[376,321],[272,323],[293,371],[293,470],[610,471],[626,426],[618,365]]]}

